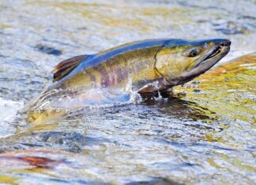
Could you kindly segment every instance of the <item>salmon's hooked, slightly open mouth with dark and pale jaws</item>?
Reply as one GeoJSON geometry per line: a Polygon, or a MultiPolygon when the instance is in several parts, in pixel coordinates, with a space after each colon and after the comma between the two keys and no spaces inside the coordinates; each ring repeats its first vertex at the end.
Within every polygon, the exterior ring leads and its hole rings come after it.
{"type": "Polygon", "coordinates": [[[206,54],[198,58],[198,64],[195,65],[193,69],[183,72],[183,74],[175,80],[175,85],[186,83],[208,71],[209,68],[212,68],[213,65],[220,61],[220,59],[223,58],[226,54],[228,54],[230,45],[231,41],[228,39],[226,39],[224,42],[217,43],[206,54]]]}

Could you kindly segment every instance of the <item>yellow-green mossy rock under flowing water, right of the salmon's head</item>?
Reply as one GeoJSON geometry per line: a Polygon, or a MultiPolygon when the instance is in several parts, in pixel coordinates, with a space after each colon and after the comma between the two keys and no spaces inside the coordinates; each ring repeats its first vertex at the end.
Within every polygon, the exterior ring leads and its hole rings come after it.
{"type": "Polygon", "coordinates": [[[188,83],[176,87],[175,93],[186,92],[184,99],[203,105],[223,118],[255,123],[256,56],[239,57],[226,65],[199,76],[197,87],[188,83]],[[200,93],[195,93],[195,91],[200,93]]]}

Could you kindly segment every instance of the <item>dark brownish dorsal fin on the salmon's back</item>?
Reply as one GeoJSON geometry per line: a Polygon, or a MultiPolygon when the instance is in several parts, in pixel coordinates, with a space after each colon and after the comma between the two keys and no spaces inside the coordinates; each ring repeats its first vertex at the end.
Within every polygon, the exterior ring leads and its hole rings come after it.
{"type": "Polygon", "coordinates": [[[93,55],[90,54],[79,55],[76,57],[70,57],[69,59],[60,62],[55,66],[55,69],[52,70],[52,73],[54,74],[53,82],[61,80],[64,76],[70,74],[70,72],[72,72],[73,69],[81,63],[81,61],[85,61],[85,59],[92,56],[93,55]]]}

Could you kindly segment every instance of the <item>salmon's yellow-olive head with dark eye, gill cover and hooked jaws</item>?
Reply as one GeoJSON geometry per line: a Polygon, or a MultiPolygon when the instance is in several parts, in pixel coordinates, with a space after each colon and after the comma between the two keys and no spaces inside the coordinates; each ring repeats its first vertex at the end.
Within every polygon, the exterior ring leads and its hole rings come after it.
{"type": "Polygon", "coordinates": [[[186,83],[212,68],[228,54],[230,45],[228,39],[170,42],[156,53],[156,72],[170,86],[186,83]]]}

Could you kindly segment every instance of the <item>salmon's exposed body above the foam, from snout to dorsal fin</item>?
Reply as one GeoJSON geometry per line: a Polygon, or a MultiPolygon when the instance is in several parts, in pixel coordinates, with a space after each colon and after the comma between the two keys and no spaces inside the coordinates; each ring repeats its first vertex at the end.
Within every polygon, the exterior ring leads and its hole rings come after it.
{"type": "MultiPolygon", "coordinates": [[[[79,61],[75,67],[66,72],[55,75],[55,83],[48,89],[89,89],[94,87],[122,88],[131,83],[134,91],[145,93],[147,91],[164,90],[174,85],[185,83],[211,68],[210,64],[205,69],[195,72],[190,76],[181,76],[189,72],[196,65],[198,58],[211,55],[213,48],[225,46],[223,52],[218,51],[219,61],[228,53],[230,41],[228,39],[209,39],[188,41],[184,39],[151,39],[127,43],[111,50],[93,55],[82,55],[70,58],[60,63],[55,68],[55,74],[62,71],[69,61],[79,61]],[[200,54],[189,56],[191,50],[200,54]],[[209,54],[207,54],[209,53],[209,54]],[[64,65],[63,65],[64,64],[64,65]],[[179,79],[180,78],[180,79],[179,79]],[[157,83],[158,87],[145,87],[149,83],[157,83]]],[[[220,48],[218,49],[220,50],[220,48]]],[[[213,56],[216,57],[216,56],[213,56]]]]}

